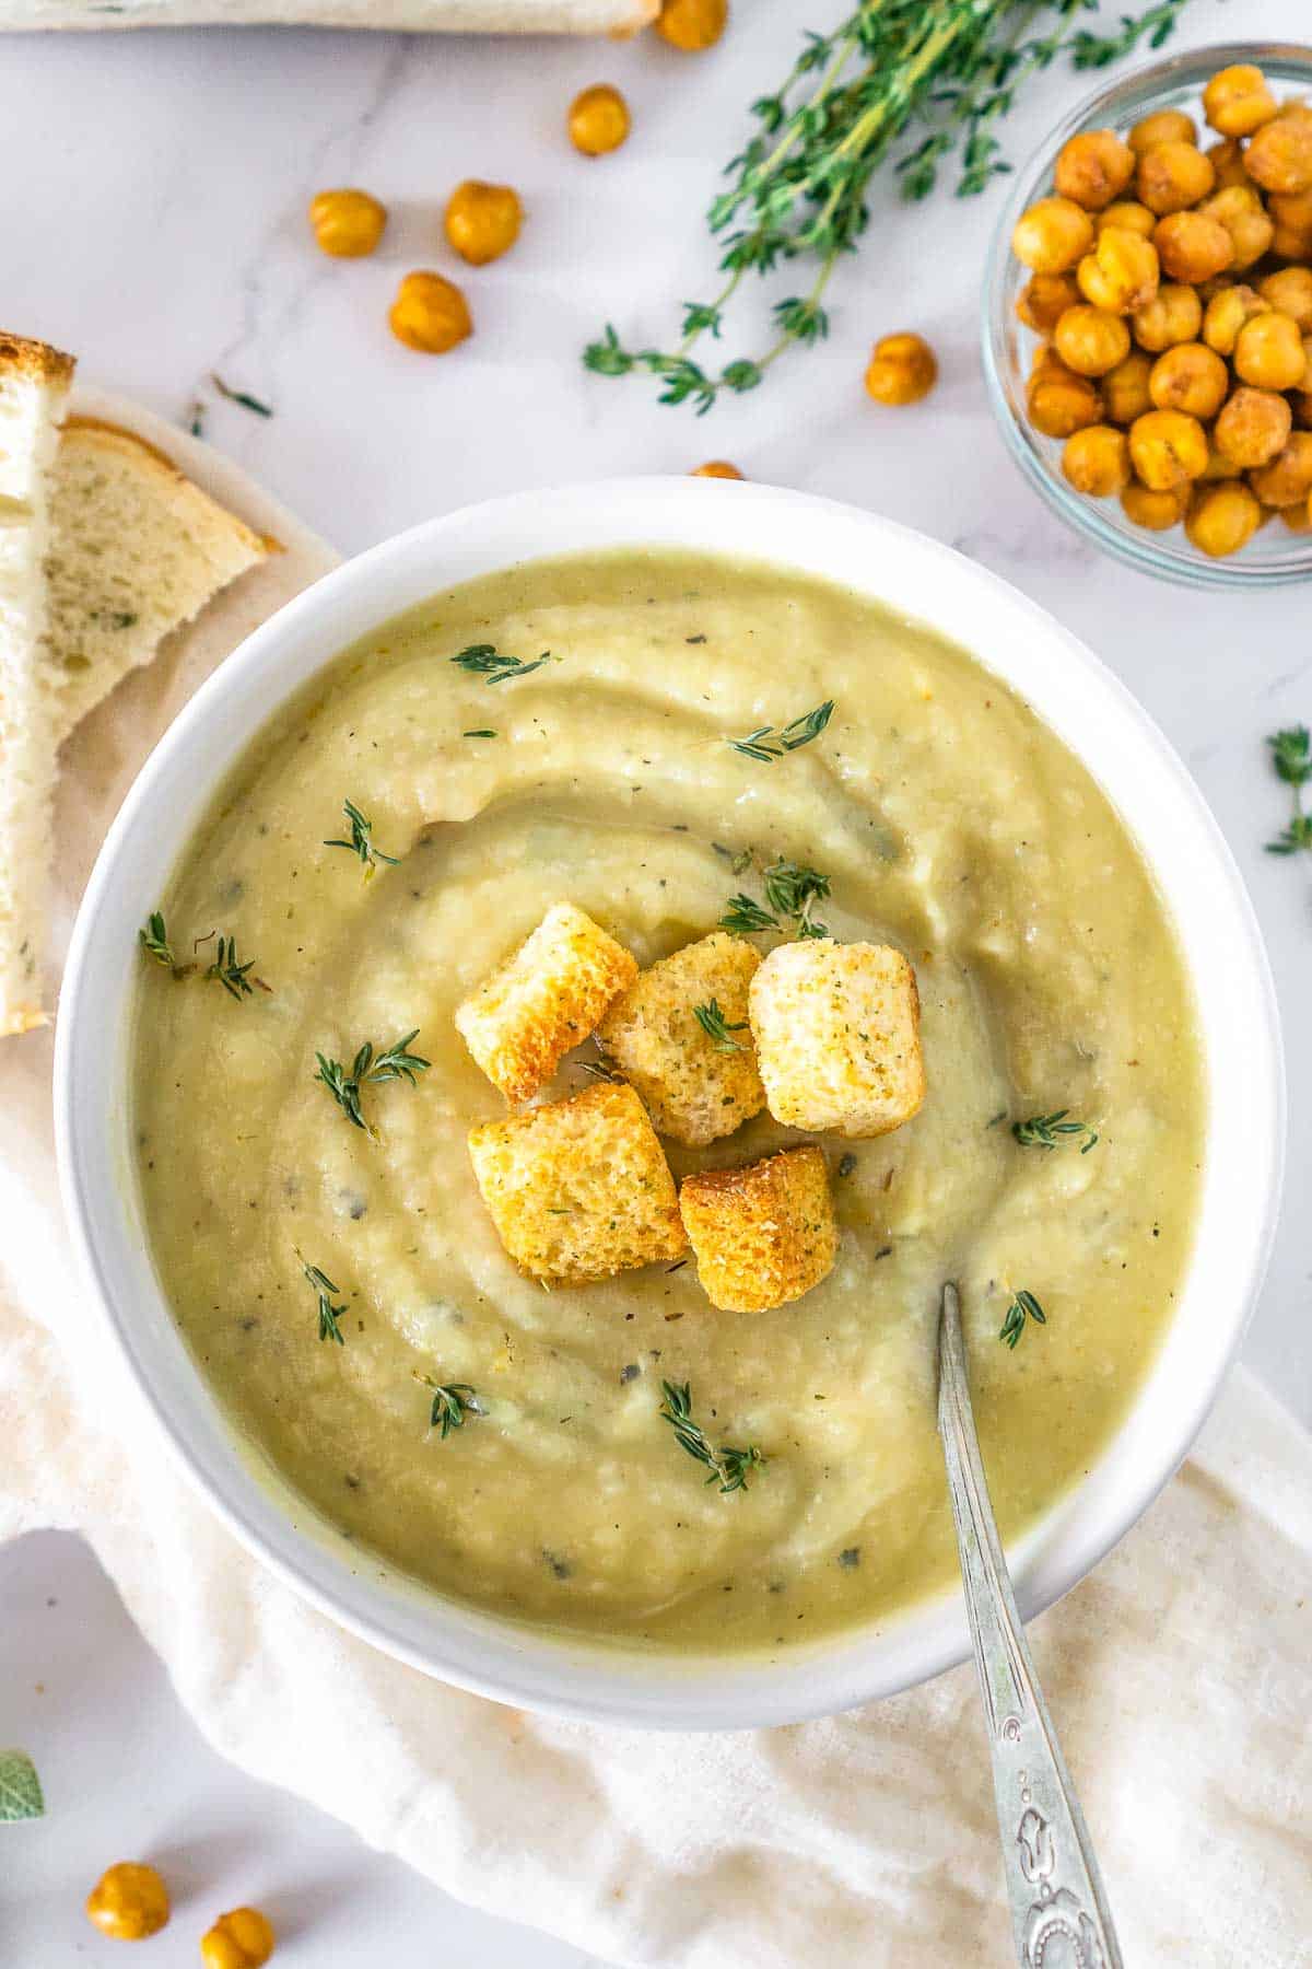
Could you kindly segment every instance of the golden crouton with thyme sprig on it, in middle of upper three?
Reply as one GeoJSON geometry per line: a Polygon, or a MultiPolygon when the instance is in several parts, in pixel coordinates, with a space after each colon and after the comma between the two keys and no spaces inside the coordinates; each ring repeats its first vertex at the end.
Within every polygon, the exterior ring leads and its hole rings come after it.
{"type": "Polygon", "coordinates": [[[747,1026],[759,963],[749,943],[716,929],[643,971],[596,1030],[675,1142],[714,1142],[765,1107],[747,1026]]]}

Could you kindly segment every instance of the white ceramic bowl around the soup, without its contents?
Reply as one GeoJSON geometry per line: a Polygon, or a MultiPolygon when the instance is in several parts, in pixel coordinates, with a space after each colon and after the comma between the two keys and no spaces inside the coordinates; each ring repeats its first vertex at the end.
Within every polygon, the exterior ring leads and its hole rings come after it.
{"type": "MultiPolygon", "coordinates": [[[[1282,1156],[1275,996],[1235,864],[1192,780],[1117,679],[1050,616],[948,547],[828,500],[755,484],[629,478],[472,506],[350,561],[210,677],[148,760],[100,851],[59,1006],[63,1195],[92,1298],[185,1469],[236,1536],[334,1620],[478,1693],[574,1717],[738,1729],[909,1687],[968,1652],[958,1595],[781,1662],[557,1640],[454,1605],[342,1550],[256,1475],[161,1296],[132,1177],[128,1020],[138,925],[218,778],[291,691],[389,616],[515,561],[694,547],[824,575],[930,622],[1007,679],[1090,766],[1149,857],[1198,992],[1210,1136],[1198,1244],[1164,1347],[1090,1477],[1013,1550],[1033,1615],[1080,1579],[1188,1451],[1235,1355],[1271,1240],[1282,1156]]],[[[1145,1046],[1153,1036],[1143,1036],[1145,1046]]]]}

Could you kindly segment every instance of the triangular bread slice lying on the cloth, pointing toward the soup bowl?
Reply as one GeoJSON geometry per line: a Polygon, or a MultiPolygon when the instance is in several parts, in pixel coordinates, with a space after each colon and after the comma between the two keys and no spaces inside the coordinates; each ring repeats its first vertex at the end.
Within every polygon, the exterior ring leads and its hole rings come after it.
{"type": "Polygon", "coordinates": [[[269,547],[163,451],[116,425],[69,417],[51,475],[45,561],[57,742],[269,547]]]}

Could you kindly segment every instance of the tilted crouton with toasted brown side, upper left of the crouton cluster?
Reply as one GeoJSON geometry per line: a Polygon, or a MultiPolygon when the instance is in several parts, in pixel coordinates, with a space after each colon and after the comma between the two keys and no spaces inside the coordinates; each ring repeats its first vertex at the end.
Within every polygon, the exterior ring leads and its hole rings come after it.
{"type": "Polygon", "coordinates": [[[529,1101],[635,977],[622,943],[572,902],[557,902],[456,1008],[456,1030],[507,1101],[529,1101]]]}

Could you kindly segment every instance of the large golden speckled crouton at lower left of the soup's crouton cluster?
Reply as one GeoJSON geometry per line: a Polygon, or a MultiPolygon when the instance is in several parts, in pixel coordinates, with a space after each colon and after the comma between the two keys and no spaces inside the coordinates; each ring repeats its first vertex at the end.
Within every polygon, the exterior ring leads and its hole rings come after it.
{"type": "Polygon", "coordinates": [[[582,1286],[686,1250],[675,1177],[631,1087],[598,1081],[470,1132],[502,1244],[533,1278],[582,1286]]]}

